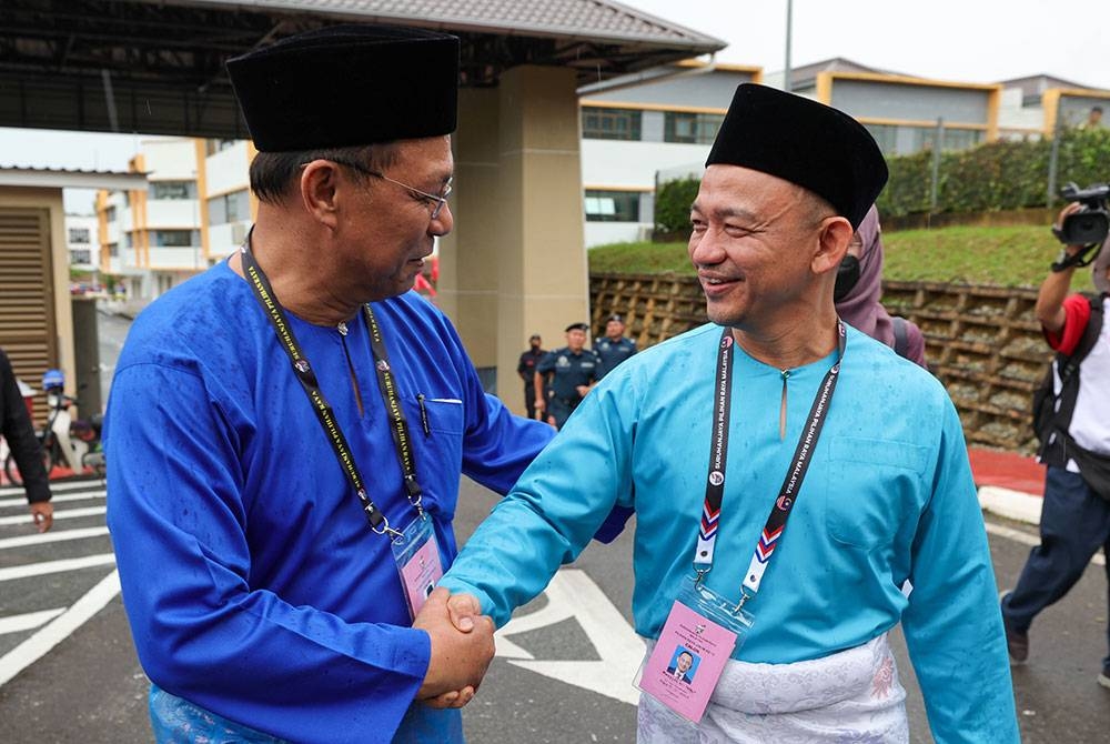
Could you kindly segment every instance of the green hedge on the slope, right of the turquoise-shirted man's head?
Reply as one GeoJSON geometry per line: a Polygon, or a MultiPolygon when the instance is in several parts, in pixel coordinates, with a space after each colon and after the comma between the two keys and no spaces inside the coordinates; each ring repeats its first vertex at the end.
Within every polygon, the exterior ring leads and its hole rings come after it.
{"type": "MultiPolygon", "coordinates": [[[[937,212],[989,212],[1043,207],[1048,189],[1050,140],[989,142],[940,158],[937,212]]],[[[1061,134],[1057,188],[1110,182],[1110,129],[1068,130],[1061,134]]],[[[878,199],[884,217],[929,211],[932,153],[890,158],[890,181],[878,199]]],[[[1057,197],[1059,203],[1059,197],[1057,197]]]]}

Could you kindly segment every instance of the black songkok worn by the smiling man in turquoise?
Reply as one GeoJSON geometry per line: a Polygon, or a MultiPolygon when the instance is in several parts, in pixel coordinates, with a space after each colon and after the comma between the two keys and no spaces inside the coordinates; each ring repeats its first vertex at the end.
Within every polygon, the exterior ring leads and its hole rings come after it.
{"type": "Polygon", "coordinates": [[[750,168],[796,183],[858,228],[887,182],[879,145],[836,109],[774,88],[736,89],[705,164],[750,168]]]}

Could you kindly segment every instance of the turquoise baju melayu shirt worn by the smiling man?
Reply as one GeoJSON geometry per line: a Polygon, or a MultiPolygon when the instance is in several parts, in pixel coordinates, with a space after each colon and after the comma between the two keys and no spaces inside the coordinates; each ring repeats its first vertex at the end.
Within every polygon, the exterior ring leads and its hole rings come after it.
{"type": "MultiPolygon", "coordinates": [[[[1017,741],[982,515],[945,389],[847,330],[808,474],[734,654],[791,663],[862,645],[901,621],[938,742],[1017,741]],[[907,599],[906,581],[914,590],[907,599]]],[[[720,328],[640,352],[606,375],[441,582],[498,624],[543,591],[614,505],[636,513],[633,614],[658,637],[692,563],[708,473],[720,328]]],[[[738,350],[725,494],[706,581],[739,597],[756,541],[835,353],[789,370],[738,350]],[[779,412],[785,399],[786,435],[779,412]]]]}

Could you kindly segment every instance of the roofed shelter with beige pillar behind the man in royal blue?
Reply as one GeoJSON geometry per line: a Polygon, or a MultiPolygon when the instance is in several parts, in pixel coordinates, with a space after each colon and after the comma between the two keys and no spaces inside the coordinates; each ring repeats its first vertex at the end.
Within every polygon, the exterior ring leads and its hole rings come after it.
{"type": "Polygon", "coordinates": [[[224,61],[344,22],[462,41],[440,305],[487,388],[523,411],[528,335],[589,318],[578,88],[724,41],[608,0],[3,0],[0,127],[244,139],[224,61]]]}

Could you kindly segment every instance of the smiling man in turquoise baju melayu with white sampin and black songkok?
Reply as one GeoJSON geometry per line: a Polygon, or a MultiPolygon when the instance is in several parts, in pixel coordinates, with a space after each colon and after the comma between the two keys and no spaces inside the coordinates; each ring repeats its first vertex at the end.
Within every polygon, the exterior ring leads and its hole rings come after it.
{"type": "MultiPolygon", "coordinates": [[[[507,622],[622,506],[649,654],[675,647],[674,603],[692,592],[727,600],[738,640],[697,726],[642,696],[640,742],[907,742],[887,643],[899,622],[937,742],[1018,740],[959,418],[935,378],[834,308],[886,179],[851,118],[737,89],[690,210],[712,323],[586,396],[442,580],[455,622],[478,609],[507,622]]],[[[697,629],[713,620],[698,614],[697,629]]]]}

